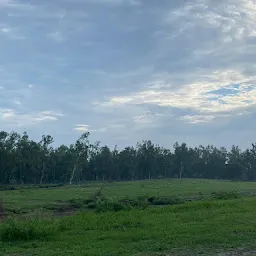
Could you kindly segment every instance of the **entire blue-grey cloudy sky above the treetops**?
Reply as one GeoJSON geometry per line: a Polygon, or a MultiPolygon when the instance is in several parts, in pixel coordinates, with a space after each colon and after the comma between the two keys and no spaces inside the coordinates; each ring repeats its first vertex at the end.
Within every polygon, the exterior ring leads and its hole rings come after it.
{"type": "Polygon", "coordinates": [[[0,130],[256,142],[256,0],[0,0],[0,130]]]}

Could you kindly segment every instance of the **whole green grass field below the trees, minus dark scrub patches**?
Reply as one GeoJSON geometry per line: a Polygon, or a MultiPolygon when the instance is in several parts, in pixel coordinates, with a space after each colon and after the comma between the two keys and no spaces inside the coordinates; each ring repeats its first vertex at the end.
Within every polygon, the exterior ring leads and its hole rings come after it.
{"type": "Polygon", "coordinates": [[[72,216],[64,217],[49,214],[48,206],[91,198],[100,187],[90,183],[0,191],[4,208],[20,213],[0,225],[0,255],[256,255],[256,183],[185,179],[110,183],[102,193],[112,203],[139,197],[160,198],[161,203],[122,211],[76,208],[72,216]],[[42,215],[27,215],[32,212],[42,215]]]}

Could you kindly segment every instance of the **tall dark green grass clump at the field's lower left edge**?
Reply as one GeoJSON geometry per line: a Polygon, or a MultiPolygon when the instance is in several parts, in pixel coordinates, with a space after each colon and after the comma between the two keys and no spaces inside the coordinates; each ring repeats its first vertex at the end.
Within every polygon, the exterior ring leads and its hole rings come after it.
{"type": "Polygon", "coordinates": [[[9,219],[2,223],[0,239],[3,242],[47,240],[58,230],[57,225],[46,221],[18,221],[9,219]]]}

